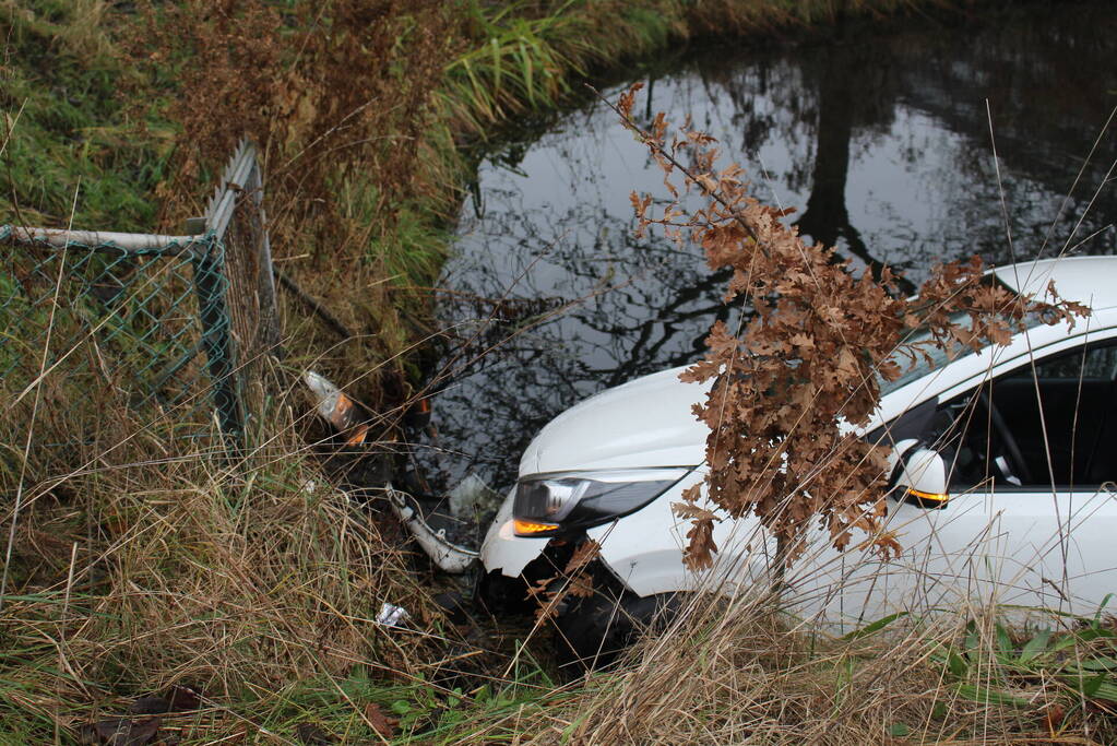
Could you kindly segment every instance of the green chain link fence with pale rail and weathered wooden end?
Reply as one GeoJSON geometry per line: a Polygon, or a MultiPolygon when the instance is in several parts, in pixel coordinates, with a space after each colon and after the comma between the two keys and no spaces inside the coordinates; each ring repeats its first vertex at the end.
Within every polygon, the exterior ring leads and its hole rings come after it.
{"type": "MultiPolygon", "coordinates": [[[[109,388],[187,434],[245,444],[257,361],[279,342],[256,149],[242,142],[197,235],[0,227],[0,389],[109,388]]],[[[257,396],[258,399],[258,396],[257,396]]]]}

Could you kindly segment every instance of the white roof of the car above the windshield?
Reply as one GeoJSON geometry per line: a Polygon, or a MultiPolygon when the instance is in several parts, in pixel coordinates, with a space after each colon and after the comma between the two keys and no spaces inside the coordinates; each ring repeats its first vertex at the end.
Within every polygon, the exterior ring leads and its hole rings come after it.
{"type": "Polygon", "coordinates": [[[997,267],[992,274],[1013,290],[1035,294],[1040,299],[1053,280],[1061,298],[1095,310],[1117,306],[1117,256],[1037,259],[997,267]]]}

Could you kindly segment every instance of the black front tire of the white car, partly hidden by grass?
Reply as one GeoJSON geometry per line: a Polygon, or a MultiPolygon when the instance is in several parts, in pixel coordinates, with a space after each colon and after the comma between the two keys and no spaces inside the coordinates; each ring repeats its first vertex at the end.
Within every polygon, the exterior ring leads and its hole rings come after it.
{"type": "Polygon", "coordinates": [[[599,592],[567,599],[555,619],[560,659],[585,669],[609,666],[641,634],[662,631],[679,608],[675,593],[640,597],[599,592]]]}

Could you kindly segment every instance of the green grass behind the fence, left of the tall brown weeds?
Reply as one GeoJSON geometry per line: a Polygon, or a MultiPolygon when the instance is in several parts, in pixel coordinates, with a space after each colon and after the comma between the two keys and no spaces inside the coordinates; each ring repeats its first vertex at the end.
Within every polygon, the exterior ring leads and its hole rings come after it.
{"type": "Polygon", "coordinates": [[[8,140],[0,221],[139,230],[165,178],[175,128],[159,102],[127,98],[137,84],[102,21],[105,4],[79,0],[8,7],[2,104],[8,140]]]}

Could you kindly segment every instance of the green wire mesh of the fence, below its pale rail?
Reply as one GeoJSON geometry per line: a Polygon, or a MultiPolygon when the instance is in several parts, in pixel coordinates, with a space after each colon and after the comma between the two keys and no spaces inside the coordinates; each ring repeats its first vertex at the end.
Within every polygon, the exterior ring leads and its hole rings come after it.
{"type": "MultiPolygon", "coordinates": [[[[225,247],[212,232],[156,248],[16,241],[0,227],[0,388],[9,405],[48,379],[111,388],[188,434],[240,434],[225,247]],[[193,432],[190,432],[190,431],[193,432]]],[[[85,393],[83,393],[85,392],[85,393]]]]}

